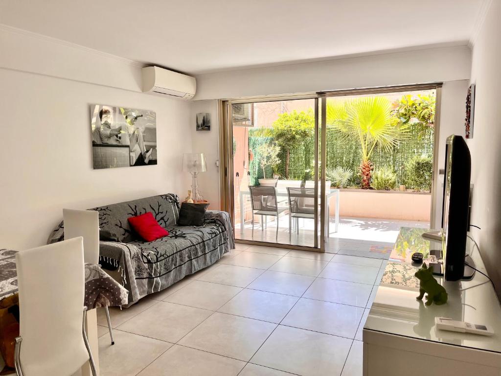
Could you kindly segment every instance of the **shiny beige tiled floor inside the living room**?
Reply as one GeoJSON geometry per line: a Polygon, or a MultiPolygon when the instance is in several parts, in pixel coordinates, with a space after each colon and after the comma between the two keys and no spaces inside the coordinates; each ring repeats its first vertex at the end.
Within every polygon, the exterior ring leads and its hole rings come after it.
{"type": "Polygon", "coordinates": [[[366,307],[385,265],[238,244],[167,290],[111,309],[113,346],[98,312],[101,374],[359,376],[366,307]]]}

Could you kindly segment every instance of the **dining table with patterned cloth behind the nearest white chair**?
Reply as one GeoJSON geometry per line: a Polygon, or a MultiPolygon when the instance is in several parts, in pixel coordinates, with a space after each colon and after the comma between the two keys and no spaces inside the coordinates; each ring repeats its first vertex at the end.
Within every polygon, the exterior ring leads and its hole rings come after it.
{"type": "MultiPolygon", "coordinates": [[[[16,270],[17,251],[0,250],[0,301],[18,293],[18,273],[16,270]]],[[[64,281],[61,281],[64,283],[64,281]]],[[[87,307],[87,335],[99,374],[99,353],[97,345],[97,315],[94,308],[125,305],[129,292],[97,264],[85,264],[85,297],[87,307]]],[[[87,364],[82,367],[82,375],[90,375],[87,364]]]]}

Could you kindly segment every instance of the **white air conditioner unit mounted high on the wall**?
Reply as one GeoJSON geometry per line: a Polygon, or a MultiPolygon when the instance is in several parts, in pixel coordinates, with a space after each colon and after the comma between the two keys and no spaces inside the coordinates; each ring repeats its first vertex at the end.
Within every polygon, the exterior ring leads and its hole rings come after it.
{"type": "Polygon", "coordinates": [[[185,74],[160,67],[142,69],[143,93],[191,99],[196,92],[196,80],[185,74]]]}

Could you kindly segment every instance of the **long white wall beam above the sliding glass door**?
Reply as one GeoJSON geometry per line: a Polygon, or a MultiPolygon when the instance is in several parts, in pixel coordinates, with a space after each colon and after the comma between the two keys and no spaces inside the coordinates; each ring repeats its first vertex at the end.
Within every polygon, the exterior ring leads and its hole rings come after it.
{"type": "Polygon", "coordinates": [[[195,99],[467,80],[470,63],[459,46],[212,73],[197,76],[195,99]]]}

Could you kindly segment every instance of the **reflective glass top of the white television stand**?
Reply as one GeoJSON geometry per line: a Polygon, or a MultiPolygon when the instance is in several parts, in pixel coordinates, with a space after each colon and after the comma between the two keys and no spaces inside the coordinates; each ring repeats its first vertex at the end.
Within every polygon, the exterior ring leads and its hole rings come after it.
{"type": "MultiPolygon", "coordinates": [[[[430,250],[442,247],[441,242],[421,237],[427,231],[418,228],[400,230],[364,330],[501,352],[501,308],[491,284],[485,283],[488,280],[480,273],[476,273],[470,281],[451,282],[435,277],[448,294],[444,305],[426,306],[424,301],[416,299],[419,281],[414,273],[420,266],[413,265],[410,257],[414,252],[421,252],[426,258],[430,250]],[[493,327],[495,334],[487,337],[439,330],[435,328],[435,317],[487,324],[493,327]]],[[[477,269],[484,272],[478,252],[473,252],[471,256],[477,269]]]]}

